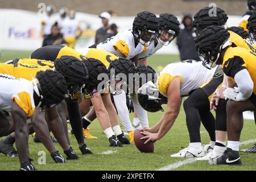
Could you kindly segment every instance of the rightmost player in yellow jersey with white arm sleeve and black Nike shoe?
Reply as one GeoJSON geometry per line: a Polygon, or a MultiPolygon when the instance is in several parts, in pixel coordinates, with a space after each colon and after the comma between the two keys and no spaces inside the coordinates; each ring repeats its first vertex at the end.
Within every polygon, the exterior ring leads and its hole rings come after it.
{"type": "MultiPolygon", "coordinates": [[[[255,96],[255,59],[254,52],[232,47],[229,32],[220,26],[205,28],[196,38],[203,65],[208,68],[222,65],[226,76],[236,83],[234,88],[226,88],[226,127],[228,146],[219,158],[209,160],[210,164],[242,164],[239,155],[239,140],[243,127],[242,112],[256,109],[255,96]]],[[[214,104],[215,100],[213,101],[214,104]]]]}

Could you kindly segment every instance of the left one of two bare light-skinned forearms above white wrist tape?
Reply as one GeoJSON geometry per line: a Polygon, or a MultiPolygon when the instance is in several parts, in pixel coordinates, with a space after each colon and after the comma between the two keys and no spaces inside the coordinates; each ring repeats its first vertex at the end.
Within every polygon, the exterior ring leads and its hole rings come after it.
{"type": "Polygon", "coordinates": [[[100,122],[102,129],[107,129],[108,127],[110,127],[110,119],[109,114],[106,111],[106,108],[102,101],[101,94],[94,94],[94,97],[90,100],[92,101],[93,108],[95,110],[97,119],[100,122]]]}

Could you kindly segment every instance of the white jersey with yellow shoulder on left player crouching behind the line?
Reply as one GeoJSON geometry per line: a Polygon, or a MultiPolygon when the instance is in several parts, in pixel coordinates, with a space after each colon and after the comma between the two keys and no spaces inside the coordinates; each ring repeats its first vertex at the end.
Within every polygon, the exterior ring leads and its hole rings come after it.
{"type": "Polygon", "coordinates": [[[107,39],[105,42],[97,45],[98,49],[103,49],[114,55],[117,55],[117,49],[125,55],[126,59],[131,59],[134,56],[146,51],[141,43],[135,47],[134,35],[131,30],[124,32],[119,32],[117,35],[112,36],[112,38],[107,39]]]}

